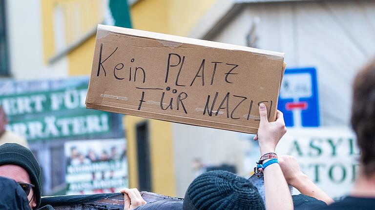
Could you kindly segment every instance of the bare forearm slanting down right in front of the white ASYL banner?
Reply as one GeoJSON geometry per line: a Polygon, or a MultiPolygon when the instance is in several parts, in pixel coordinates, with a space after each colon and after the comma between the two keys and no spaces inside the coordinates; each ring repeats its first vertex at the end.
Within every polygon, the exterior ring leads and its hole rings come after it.
{"type": "Polygon", "coordinates": [[[324,201],[326,204],[333,203],[333,199],[316,186],[307,175],[300,175],[291,185],[302,194],[324,201]]]}

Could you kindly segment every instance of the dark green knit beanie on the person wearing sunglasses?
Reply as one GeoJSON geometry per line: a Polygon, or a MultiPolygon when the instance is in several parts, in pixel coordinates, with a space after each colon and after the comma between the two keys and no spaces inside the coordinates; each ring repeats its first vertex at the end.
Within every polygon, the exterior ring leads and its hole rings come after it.
{"type": "Polygon", "coordinates": [[[33,153],[17,143],[5,143],[0,146],[0,165],[18,165],[27,171],[34,187],[37,208],[41,203],[42,187],[40,184],[41,167],[33,153]]]}

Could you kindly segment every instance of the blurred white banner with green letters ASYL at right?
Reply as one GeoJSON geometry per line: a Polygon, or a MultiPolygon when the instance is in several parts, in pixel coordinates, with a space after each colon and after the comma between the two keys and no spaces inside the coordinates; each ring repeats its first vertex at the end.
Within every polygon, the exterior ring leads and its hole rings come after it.
{"type": "Polygon", "coordinates": [[[353,188],[359,149],[349,128],[289,128],[276,152],[294,156],[302,171],[332,197],[353,188]]]}

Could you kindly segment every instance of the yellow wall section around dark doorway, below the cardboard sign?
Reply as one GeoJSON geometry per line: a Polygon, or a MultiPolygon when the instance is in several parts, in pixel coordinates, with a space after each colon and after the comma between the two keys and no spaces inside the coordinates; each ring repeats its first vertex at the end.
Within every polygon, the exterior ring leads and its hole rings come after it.
{"type": "Polygon", "coordinates": [[[141,117],[125,116],[129,165],[129,187],[138,188],[137,134],[136,126],[148,121],[151,162],[152,192],[174,196],[176,194],[174,175],[174,154],[171,124],[141,117]]]}

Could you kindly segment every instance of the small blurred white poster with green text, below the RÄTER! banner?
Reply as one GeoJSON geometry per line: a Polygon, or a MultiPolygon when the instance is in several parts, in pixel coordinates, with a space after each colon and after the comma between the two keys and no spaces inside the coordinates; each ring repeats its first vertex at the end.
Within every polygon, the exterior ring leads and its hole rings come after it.
{"type": "Polygon", "coordinates": [[[128,186],[123,139],[67,141],[64,151],[66,194],[114,193],[128,186]]]}

